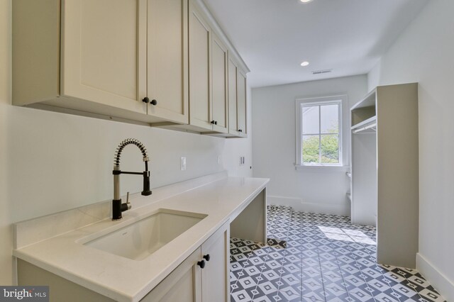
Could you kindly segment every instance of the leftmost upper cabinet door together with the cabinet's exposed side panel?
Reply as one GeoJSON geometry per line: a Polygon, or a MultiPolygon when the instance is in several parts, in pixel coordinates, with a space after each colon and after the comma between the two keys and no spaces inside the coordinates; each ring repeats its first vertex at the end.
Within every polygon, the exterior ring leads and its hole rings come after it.
{"type": "Polygon", "coordinates": [[[141,99],[145,6],[146,0],[13,1],[13,104],[155,121],[141,99]]]}

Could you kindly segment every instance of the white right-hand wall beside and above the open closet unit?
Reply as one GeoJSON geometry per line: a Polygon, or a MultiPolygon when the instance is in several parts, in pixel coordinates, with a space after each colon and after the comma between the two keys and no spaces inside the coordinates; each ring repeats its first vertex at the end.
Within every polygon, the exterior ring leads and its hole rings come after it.
{"type": "Polygon", "coordinates": [[[454,1],[432,0],[369,74],[419,82],[418,269],[454,301],[454,1]]]}

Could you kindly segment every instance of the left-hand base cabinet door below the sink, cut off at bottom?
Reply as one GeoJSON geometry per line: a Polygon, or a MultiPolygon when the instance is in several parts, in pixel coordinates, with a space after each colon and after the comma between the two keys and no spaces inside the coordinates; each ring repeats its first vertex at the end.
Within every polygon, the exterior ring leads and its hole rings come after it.
{"type": "MultiPolygon", "coordinates": [[[[143,297],[141,302],[201,302],[200,248],[143,297]]],[[[216,301],[216,300],[213,300],[216,301]]]]}

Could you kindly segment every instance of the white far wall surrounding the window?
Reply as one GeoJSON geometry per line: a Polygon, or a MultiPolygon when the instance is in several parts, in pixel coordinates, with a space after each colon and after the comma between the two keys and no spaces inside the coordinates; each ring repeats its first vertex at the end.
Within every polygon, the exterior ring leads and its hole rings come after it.
{"type": "Polygon", "coordinates": [[[295,99],[348,95],[349,104],[343,106],[343,138],[347,147],[344,164],[349,165],[349,109],[366,92],[365,75],[253,89],[253,174],[270,177],[268,203],[350,215],[350,203],[345,198],[350,179],[345,169],[295,170],[295,99]]]}

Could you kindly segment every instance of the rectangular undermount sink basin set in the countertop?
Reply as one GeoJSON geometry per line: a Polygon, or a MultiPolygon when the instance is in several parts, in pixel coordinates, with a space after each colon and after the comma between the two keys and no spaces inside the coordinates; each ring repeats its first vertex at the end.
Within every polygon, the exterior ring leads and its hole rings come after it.
{"type": "Polygon", "coordinates": [[[133,260],[142,260],[206,217],[205,214],[160,208],[147,218],[84,243],[133,260]]]}

